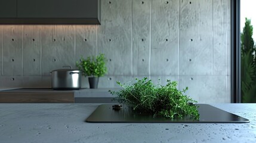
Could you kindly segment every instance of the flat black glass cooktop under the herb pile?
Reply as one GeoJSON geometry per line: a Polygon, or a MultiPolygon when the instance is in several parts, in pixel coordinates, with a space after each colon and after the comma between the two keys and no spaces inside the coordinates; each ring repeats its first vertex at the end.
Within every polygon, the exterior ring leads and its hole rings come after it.
{"type": "Polygon", "coordinates": [[[165,117],[153,117],[152,114],[135,113],[132,108],[122,107],[113,110],[111,104],[99,105],[96,110],[86,119],[86,122],[95,123],[248,123],[249,120],[220,108],[208,104],[196,104],[200,119],[189,117],[183,119],[166,119],[165,117]]]}

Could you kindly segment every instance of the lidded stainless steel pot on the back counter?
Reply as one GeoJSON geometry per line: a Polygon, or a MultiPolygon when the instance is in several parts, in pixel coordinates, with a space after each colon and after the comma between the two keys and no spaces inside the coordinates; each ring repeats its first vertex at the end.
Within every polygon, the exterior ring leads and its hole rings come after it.
{"type": "Polygon", "coordinates": [[[51,87],[53,89],[79,89],[81,88],[81,70],[58,69],[51,73],[51,87]]]}

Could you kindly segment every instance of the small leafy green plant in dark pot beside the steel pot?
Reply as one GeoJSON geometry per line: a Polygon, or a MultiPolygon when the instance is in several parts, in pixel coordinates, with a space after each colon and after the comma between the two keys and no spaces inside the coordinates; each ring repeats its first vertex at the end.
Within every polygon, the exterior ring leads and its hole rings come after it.
{"type": "Polygon", "coordinates": [[[99,54],[83,58],[76,61],[76,67],[82,71],[82,75],[88,76],[90,88],[98,88],[98,78],[107,72],[106,58],[104,54],[99,54]]]}

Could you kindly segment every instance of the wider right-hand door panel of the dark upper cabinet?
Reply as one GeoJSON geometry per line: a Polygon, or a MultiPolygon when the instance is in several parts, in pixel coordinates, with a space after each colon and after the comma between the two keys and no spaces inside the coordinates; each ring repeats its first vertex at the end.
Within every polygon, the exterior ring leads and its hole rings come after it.
{"type": "Polygon", "coordinates": [[[18,18],[96,18],[97,0],[18,0],[18,18]]]}

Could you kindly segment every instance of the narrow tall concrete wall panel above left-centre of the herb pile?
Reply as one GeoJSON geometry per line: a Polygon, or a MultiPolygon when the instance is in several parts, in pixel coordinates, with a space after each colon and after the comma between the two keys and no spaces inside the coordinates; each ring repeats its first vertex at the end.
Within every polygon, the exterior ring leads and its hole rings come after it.
{"type": "Polygon", "coordinates": [[[132,75],[149,75],[151,2],[132,1],[132,75]]]}

